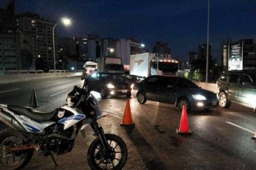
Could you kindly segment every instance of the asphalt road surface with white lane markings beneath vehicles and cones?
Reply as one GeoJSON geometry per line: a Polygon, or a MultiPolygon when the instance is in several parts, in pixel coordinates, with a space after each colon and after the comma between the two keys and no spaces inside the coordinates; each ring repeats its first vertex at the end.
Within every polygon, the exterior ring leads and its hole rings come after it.
{"type": "MultiPolygon", "coordinates": [[[[39,81],[0,85],[0,103],[28,105],[35,89],[38,109],[51,111],[65,103],[73,85],[82,85],[79,77],[48,78],[39,81]]],[[[188,114],[191,136],[176,134],[181,111],[173,105],[147,101],[138,104],[131,98],[132,131],[120,127],[127,98],[100,100],[102,111],[109,115],[99,123],[106,133],[117,134],[127,143],[129,156],[124,169],[255,169],[256,113],[232,104],[210,113],[194,110],[188,114]]],[[[85,138],[78,136],[74,149],[55,156],[57,169],[89,169],[86,151],[95,137],[86,127],[85,138]]],[[[25,169],[55,169],[50,157],[35,156],[25,169]]]]}

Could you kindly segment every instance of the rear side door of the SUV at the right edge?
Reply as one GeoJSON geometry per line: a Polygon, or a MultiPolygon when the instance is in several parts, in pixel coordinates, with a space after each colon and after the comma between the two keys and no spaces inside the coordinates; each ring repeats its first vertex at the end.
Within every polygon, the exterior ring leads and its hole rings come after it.
{"type": "Polygon", "coordinates": [[[230,74],[228,78],[227,91],[229,100],[238,102],[237,89],[239,87],[239,74],[230,74]]]}

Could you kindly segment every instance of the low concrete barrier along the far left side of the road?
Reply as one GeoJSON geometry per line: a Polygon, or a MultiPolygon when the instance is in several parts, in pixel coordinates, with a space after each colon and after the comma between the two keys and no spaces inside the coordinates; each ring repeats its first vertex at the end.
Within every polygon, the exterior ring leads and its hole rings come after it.
{"type": "Polygon", "coordinates": [[[3,83],[15,83],[19,81],[31,81],[39,78],[50,78],[50,77],[67,77],[67,76],[81,76],[82,72],[53,72],[53,73],[23,73],[23,74],[5,74],[0,75],[0,84],[3,83]]]}

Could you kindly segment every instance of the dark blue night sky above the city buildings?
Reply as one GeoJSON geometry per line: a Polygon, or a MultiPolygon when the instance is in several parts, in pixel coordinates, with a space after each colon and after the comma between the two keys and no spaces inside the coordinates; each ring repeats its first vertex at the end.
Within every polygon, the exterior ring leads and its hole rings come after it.
{"type": "MultiPolygon", "coordinates": [[[[0,0],[3,7],[9,0],[0,0]]],[[[100,38],[127,39],[137,36],[151,49],[155,41],[165,41],[174,58],[187,60],[207,38],[207,0],[16,0],[16,13],[34,12],[60,21],[71,17],[70,28],[57,26],[60,37],[98,33],[100,38]]],[[[211,0],[210,44],[219,59],[221,40],[256,40],[255,0],[211,0]]]]}

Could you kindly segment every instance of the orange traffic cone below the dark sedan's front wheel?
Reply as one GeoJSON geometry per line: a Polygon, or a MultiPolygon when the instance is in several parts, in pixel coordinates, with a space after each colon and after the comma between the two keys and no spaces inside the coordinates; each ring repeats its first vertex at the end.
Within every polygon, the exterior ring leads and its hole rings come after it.
{"type": "Polygon", "coordinates": [[[182,113],[181,113],[181,123],[180,128],[176,129],[178,134],[191,135],[192,132],[188,128],[188,116],[187,116],[187,107],[183,105],[182,113]]]}

